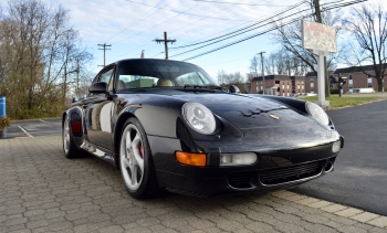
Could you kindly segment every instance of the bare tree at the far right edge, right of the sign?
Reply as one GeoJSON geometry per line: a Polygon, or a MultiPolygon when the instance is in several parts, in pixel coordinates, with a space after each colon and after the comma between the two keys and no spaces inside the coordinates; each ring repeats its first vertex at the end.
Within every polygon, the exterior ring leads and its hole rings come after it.
{"type": "Polygon", "coordinates": [[[346,46],[351,54],[344,57],[349,66],[370,63],[375,75],[367,73],[362,67],[363,73],[372,75],[377,80],[378,92],[383,91],[383,80],[387,75],[387,12],[383,6],[362,4],[353,8],[354,14],[344,21],[348,31],[355,36],[355,44],[346,46]]]}

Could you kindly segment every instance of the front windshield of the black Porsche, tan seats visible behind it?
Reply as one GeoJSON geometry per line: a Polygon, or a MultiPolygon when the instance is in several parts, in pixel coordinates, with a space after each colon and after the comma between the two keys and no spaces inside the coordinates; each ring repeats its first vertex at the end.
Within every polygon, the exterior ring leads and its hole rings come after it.
{"type": "Polygon", "coordinates": [[[146,87],[218,86],[199,66],[168,60],[119,63],[118,91],[146,87]]]}

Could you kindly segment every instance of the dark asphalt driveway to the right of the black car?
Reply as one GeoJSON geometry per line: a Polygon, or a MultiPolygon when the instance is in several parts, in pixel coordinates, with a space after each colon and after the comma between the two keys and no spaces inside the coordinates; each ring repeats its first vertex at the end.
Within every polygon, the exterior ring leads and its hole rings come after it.
{"type": "Polygon", "coordinates": [[[345,138],[335,171],[294,191],[387,215],[387,100],[327,114],[345,138]]]}

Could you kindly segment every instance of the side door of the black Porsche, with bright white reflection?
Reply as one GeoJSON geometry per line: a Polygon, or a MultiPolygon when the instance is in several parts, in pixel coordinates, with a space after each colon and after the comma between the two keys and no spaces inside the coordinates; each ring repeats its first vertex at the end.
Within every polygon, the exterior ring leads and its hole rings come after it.
{"type": "MultiPolygon", "coordinates": [[[[108,92],[113,94],[114,65],[105,67],[93,83],[105,82],[108,92]]],[[[88,141],[93,145],[113,151],[112,107],[113,102],[106,94],[90,94],[83,100],[88,141]]]]}

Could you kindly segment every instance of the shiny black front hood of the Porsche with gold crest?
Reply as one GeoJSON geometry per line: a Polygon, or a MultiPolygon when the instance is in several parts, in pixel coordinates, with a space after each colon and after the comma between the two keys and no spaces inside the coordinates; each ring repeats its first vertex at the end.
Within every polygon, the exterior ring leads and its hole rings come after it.
{"type": "Polygon", "coordinates": [[[236,140],[223,145],[226,151],[232,151],[240,145],[255,151],[306,148],[339,139],[336,130],[320,125],[307,114],[264,97],[217,94],[182,95],[178,98],[203,104],[218,117],[242,130],[243,144],[236,140]]]}

